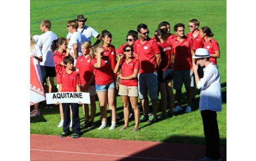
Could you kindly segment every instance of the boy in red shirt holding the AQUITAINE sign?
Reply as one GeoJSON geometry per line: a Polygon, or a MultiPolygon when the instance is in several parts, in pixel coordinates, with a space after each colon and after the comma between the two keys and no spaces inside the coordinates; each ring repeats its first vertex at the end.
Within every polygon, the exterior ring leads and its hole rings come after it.
{"type": "MultiPolygon", "coordinates": [[[[63,60],[64,66],[66,67],[60,73],[60,87],[59,92],[81,92],[80,91],[80,76],[77,71],[73,71],[74,59],[72,56],[68,55],[63,60]]],[[[80,105],[81,102],[78,102],[80,105]]],[[[70,134],[70,105],[72,110],[72,138],[80,137],[80,118],[78,103],[62,103],[64,122],[63,122],[63,133],[60,137],[67,137],[70,134]]],[[[60,104],[57,102],[56,104],[60,104]]]]}

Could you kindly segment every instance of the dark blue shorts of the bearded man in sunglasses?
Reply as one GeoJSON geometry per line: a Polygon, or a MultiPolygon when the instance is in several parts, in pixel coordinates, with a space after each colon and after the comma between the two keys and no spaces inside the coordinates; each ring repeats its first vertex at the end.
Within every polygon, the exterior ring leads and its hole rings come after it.
{"type": "Polygon", "coordinates": [[[158,90],[158,82],[157,82],[157,73],[151,72],[146,74],[138,74],[139,79],[139,96],[140,99],[147,98],[147,91],[149,92],[149,97],[151,100],[155,100],[158,98],[157,90],[158,90]]]}

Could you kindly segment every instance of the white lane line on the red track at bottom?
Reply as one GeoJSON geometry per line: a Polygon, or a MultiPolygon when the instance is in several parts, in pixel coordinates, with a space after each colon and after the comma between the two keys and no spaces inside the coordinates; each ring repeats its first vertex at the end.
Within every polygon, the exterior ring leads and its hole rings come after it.
{"type": "Polygon", "coordinates": [[[72,154],[103,155],[103,156],[109,156],[109,157],[129,157],[129,158],[141,158],[141,159],[158,159],[158,160],[188,161],[188,160],[179,160],[179,159],[136,157],[136,156],[128,156],[128,155],[111,155],[111,154],[97,154],[97,153],[66,152],[66,151],[58,151],[58,150],[43,150],[43,149],[30,149],[30,150],[41,151],[41,152],[55,152],[55,153],[72,153],[72,154]]]}

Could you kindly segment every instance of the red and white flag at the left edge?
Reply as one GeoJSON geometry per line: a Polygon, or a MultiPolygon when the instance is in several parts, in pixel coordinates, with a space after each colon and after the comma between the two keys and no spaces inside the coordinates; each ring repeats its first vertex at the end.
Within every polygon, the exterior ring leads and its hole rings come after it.
{"type": "Polygon", "coordinates": [[[30,58],[30,106],[46,100],[38,72],[33,58],[30,58]]]}

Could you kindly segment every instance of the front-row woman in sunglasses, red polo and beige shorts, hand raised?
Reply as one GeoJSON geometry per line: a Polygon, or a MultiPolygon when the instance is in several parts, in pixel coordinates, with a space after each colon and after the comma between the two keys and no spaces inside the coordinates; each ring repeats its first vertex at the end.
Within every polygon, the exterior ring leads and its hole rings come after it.
{"type": "Polygon", "coordinates": [[[132,109],[134,110],[135,127],[132,132],[139,131],[139,117],[140,110],[138,107],[138,84],[137,75],[140,69],[139,59],[134,58],[134,48],[132,45],[126,45],[123,48],[124,54],[118,55],[117,64],[115,66],[114,73],[118,73],[121,69],[121,73],[118,77],[121,79],[119,86],[119,95],[124,103],[124,126],[120,129],[129,127],[129,100],[131,101],[132,109]]]}

